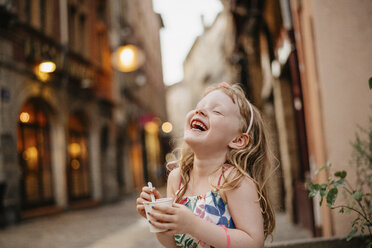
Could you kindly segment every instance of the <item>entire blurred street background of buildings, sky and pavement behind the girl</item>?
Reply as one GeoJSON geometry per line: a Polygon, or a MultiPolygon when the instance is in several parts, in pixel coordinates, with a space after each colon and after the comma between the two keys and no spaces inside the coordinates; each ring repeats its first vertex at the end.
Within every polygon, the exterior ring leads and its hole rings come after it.
{"type": "Polygon", "coordinates": [[[164,192],[186,113],[221,81],[270,130],[273,244],[346,235],[353,216],[305,183],[327,161],[357,181],[371,17],[370,0],[0,0],[0,246],[160,247],[136,195],[164,192]]]}

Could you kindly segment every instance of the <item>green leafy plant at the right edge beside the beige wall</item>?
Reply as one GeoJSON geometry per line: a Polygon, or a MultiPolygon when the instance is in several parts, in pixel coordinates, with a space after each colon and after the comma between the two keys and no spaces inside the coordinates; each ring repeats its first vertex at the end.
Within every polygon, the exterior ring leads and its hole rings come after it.
{"type": "MultiPolygon", "coordinates": [[[[358,231],[366,236],[366,247],[372,247],[372,206],[371,206],[371,190],[372,190],[372,118],[370,118],[369,129],[358,127],[355,134],[355,140],[351,143],[353,147],[352,165],[356,169],[356,185],[353,187],[347,180],[347,172],[336,171],[327,179],[326,183],[318,184],[308,182],[306,184],[309,192],[309,197],[314,198],[317,194],[320,195],[319,204],[322,205],[323,199],[326,199],[328,206],[331,209],[339,209],[342,214],[355,212],[357,217],[352,222],[352,228],[346,238],[347,241],[357,234],[358,231]],[[363,134],[361,138],[360,134],[363,134]],[[341,205],[336,204],[339,189],[342,189],[346,203],[341,205]]],[[[327,162],[323,167],[315,171],[319,171],[331,167],[331,163],[327,162]]]]}

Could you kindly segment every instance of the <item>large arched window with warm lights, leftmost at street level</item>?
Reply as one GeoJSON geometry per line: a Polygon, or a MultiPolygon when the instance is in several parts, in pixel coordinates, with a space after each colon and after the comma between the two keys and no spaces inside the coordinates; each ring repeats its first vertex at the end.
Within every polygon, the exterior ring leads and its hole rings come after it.
{"type": "Polygon", "coordinates": [[[43,100],[32,99],[24,104],[19,114],[18,154],[23,209],[54,203],[48,112],[48,105],[43,100]]]}

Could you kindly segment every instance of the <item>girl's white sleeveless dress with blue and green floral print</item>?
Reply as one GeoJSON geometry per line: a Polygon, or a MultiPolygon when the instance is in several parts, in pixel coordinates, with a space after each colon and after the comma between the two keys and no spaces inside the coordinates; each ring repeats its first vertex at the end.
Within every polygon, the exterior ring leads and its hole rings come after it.
{"type": "MultiPolygon", "coordinates": [[[[218,182],[218,185],[220,180],[218,182]]],[[[196,216],[216,225],[224,225],[227,228],[235,228],[234,221],[225,202],[218,191],[210,191],[204,195],[185,196],[179,202],[188,207],[196,216]]],[[[174,235],[177,246],[181,247],[211,247],[201,240],[195,239],[189,234],[174,235]]]]}

